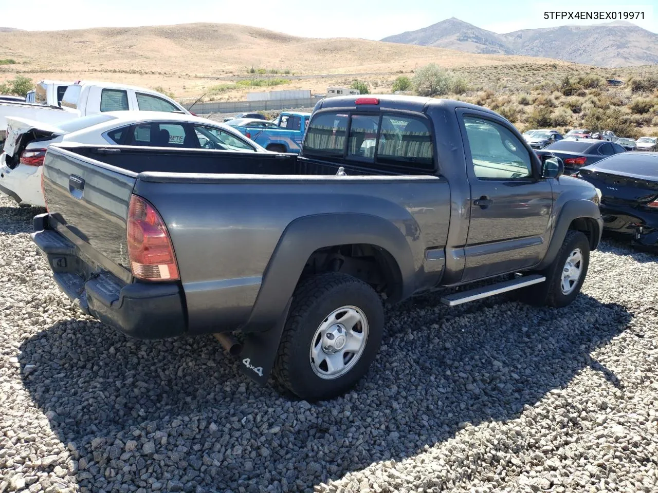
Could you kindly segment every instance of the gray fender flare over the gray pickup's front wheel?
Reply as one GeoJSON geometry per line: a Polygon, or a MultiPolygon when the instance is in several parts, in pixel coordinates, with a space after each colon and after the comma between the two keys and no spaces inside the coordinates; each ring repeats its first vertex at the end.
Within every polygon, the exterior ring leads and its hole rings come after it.
{"type": "Polygon", "coordinates": [[[553,235],[551,242],[544,256],[544,260],[537,266],[538,270],[544,269],[553,262],[557,252],[559,251],[562,243],[569,230],[569,225],[575,219],[590,219],[592,220],[592,237],[590,238],[590,248],[595,250],[601,241],[601,233],[603,233],[603,220],[601,219],[601,211],[599,206],[588,199],[569,200],[563,207],[555,221],[553,227],[553,235]]]}

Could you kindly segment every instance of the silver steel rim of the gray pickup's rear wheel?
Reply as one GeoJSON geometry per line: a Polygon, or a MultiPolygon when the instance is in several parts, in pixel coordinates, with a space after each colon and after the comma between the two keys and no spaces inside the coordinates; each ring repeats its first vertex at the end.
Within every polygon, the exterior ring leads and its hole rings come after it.
{"type": "Polygon", "coordinates": [[[324,380],[342,377],[357,364],[368,342],[368,319],[356,306],[342,306],[320,323],[311,339],[309,362],[324,380]]]}

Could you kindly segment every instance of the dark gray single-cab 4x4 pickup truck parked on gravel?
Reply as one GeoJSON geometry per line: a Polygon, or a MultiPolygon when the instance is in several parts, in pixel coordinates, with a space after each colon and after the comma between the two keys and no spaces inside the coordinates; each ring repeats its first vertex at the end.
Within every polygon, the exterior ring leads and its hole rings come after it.
{"type": "Polygon", "coordinates": [[[52,145],[32,238],[82,311],[213,333],[255,381],[321,400],[367,373],[384,300],[572,302],[603,223],[562,172],[480,106],[334,97],[299,155],[52,145]]]}

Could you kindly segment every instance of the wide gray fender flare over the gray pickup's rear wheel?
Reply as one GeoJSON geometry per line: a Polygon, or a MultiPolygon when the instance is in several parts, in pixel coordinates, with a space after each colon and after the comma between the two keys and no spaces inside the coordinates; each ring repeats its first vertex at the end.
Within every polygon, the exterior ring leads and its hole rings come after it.
{"type": "MultiPolygon", "coordinates": [[[[392,222],[370,214],[318,214],[291,222],[281,235],[263,274],[245,333],[263,332],[280,318],[306,261],[318,248],[367,244],[386,250],[397,264],[401,298],[415,289],[414,256],[405,235],[392,222]]],[[[395,268],[395,267],[394,267],[395,268]]]]}

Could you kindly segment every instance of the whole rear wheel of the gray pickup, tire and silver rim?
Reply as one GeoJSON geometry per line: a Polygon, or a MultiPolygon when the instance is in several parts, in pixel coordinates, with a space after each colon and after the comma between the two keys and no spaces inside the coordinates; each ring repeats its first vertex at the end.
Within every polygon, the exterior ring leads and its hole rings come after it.
{"type": "Polygon", "coordinates": [[[350,390],[367,373],[382,341],[384,308],[367,283],[343,273],[299,284],[274,378],[309,402],[350,390]]]}

